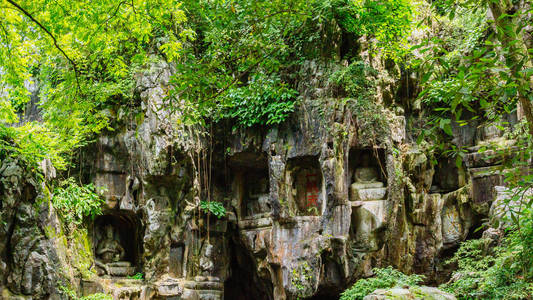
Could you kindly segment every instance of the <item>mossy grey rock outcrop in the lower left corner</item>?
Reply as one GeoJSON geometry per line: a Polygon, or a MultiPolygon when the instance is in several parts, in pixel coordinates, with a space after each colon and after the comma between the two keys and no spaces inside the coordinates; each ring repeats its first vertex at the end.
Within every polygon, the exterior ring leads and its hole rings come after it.
{"type": "MultiPolygon", "coordinates": [[[[56,240],[60,229],[49,192],[21,164],[0,165],[0,290],[37,299],[58,296],[61,281],[56,240]]],[[[4,297],[4,296],[3,296],[4,297]]],[[[9,298],[8,298],[9,299],[9,298]]]]}

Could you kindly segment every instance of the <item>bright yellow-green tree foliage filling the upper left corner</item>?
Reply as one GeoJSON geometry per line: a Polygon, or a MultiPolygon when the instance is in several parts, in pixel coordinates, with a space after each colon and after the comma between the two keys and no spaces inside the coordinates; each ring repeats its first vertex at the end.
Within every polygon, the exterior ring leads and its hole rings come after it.
{"type": "Polygon", "coordinates": [[[189,37],[179,27],[180,7],[174,0],[1,0],[0,126],[18,121],[32,82],[43,117],[11,131],[17,152],[30,162],[51,157],[65,169],[73,150],[108,126],[105,110],[133,99],[134,74],[152,53],[178,56],[189,37]]]}

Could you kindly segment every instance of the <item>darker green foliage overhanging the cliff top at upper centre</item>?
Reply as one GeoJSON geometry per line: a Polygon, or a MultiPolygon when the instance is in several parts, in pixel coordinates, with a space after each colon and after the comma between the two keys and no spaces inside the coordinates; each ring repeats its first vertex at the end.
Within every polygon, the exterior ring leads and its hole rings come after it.
{"type": "Polygon", "coordinates": [[[395,58],[412,28],[406,0],[195,0],[184,7],[196,40],[184,47],[170,100],[180,103],[186,122],[279,124],[294,110],[295,70],[331,46],[323,35],[333,23],[354,39],[375,37],[376,47],[395,58]]]}

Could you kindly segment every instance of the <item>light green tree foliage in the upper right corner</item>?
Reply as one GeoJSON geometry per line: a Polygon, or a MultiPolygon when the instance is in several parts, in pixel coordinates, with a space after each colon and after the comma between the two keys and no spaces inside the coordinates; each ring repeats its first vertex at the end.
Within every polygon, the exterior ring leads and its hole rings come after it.
{"type": "MultiPolygon", "coordinates": [[[[429,122],[432,130],[451,135],[446,124],[453,119],[459,125],[478,118],[498,122],[516,109],[519,99],[522,105],[528,103],[525,99],[531,95],[531,76],[527,75],[530,62],[521,35],[525,26],[522,22],[529,11],[518,9],[513,15],[503,13],[494,20],[487,18],[489,12],[505,12],[509,3],[433,3],[436,12],[431,18],[438,22],[440,32],[415,47],[422,49],[423,56],[413,65],[423,74],[419,100],[433,109],[429,122]]],[[[526,117],[533,126],[533,120],[527,114],[526,117]]],[[[442,138],[435,132],[423,134],[442,138]]]]}

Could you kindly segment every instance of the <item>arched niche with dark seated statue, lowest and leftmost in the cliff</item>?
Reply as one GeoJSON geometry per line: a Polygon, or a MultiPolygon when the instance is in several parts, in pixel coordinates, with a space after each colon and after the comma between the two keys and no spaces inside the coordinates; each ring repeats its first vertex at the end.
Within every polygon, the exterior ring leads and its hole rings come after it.
{"type": "Polygon", "coordinates": [[[135,273],[138,258],[135,220],[135,216],[125,212],[96,219],[94,254],[99,275],[125,277],[135,273]]]}

